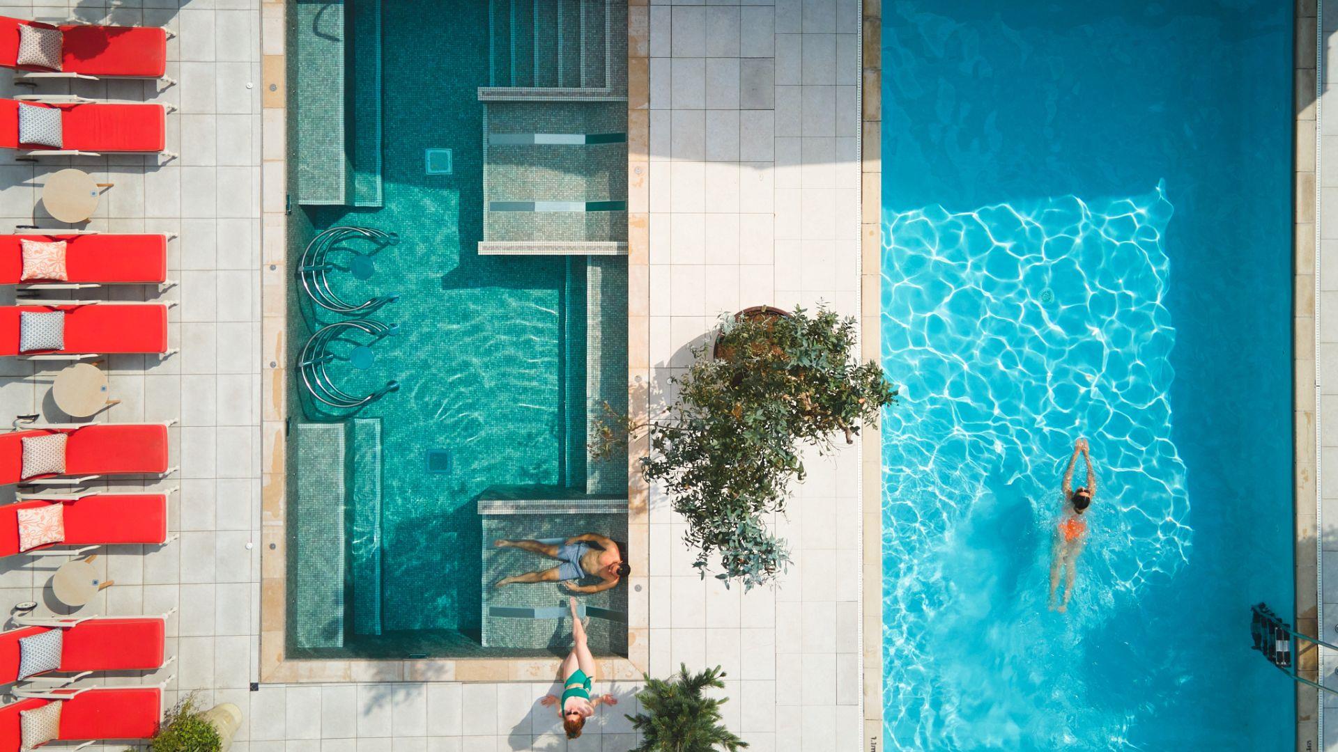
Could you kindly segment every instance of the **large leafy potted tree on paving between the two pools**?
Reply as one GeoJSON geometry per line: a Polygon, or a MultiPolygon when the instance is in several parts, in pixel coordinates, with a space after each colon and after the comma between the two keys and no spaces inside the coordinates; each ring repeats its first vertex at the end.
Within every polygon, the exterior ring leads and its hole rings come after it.
{"type": "Polygon", "coordinates": [[[828,452],[838,435],[851,443],[862,423],[876,421],[894,401],[882,368],[855,356],[855,318],[826,308],[727,316],[720,357],[693,352],[686,373],[670,379],[677,397],[664,419],[601,427],[597,456],[628,435],[649,432],[642,472],[686,519],[702,577],[712,557],[727,586],[737,579],[752,589],[784,570],[789,554],[765,515],[784,512],[791,482],[804,478],[800,444],[828,452]]]}

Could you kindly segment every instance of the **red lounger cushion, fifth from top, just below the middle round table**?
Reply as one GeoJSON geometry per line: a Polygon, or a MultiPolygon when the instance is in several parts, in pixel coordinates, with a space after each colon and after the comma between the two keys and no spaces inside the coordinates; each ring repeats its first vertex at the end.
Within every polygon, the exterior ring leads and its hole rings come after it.
{"type": "MultiPolygon", "coordinates": [[[[161,423],[90,424],[59,428],[66,443],[66,475],[124,475],[167,471],[167,427],[161,423]]],[[[0,484],[17,483],[23,438],[44,431],[0,434],[0,484]]],[[[67,523],[68,525],[68,523],[67,523]]]]}

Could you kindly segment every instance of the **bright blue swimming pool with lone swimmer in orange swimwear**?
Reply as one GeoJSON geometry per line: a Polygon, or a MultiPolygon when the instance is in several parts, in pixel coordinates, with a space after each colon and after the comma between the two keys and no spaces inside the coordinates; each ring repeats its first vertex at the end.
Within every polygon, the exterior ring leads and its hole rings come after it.
{"type": "Polygon", "coordinates": [[[1291,744],[1290,68],[1286,3],[883,4],[887,748],[1291,744]]]}

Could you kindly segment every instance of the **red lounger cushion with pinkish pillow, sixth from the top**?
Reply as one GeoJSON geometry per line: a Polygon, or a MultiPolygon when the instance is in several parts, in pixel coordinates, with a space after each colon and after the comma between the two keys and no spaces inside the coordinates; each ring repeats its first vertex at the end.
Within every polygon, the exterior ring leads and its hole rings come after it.
{"type": "Polygon", "coordinates": [[[167,539],[165,494],[98,494],[74,502],[29,499],[0,506],[0,557],[19,553],[19,510],[64,504],[66,546],[162,543],[167,539]]]}

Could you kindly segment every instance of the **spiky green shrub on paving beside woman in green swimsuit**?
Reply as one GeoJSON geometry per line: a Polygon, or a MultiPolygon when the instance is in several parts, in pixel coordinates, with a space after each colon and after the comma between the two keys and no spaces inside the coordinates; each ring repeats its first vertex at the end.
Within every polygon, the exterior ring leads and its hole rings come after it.
{"type": "Polygon", "coordinates": [[[720,723],[720,705],[728,700],[705,696],[706,688],[724,689],[720,666],[688,673],[682,664],[668,680],[645,674],[646,688],[637,694],[642,712],[628,716],[641,732],[641,747],[633,752],[735,752],[748,743],[720,723]]]}

